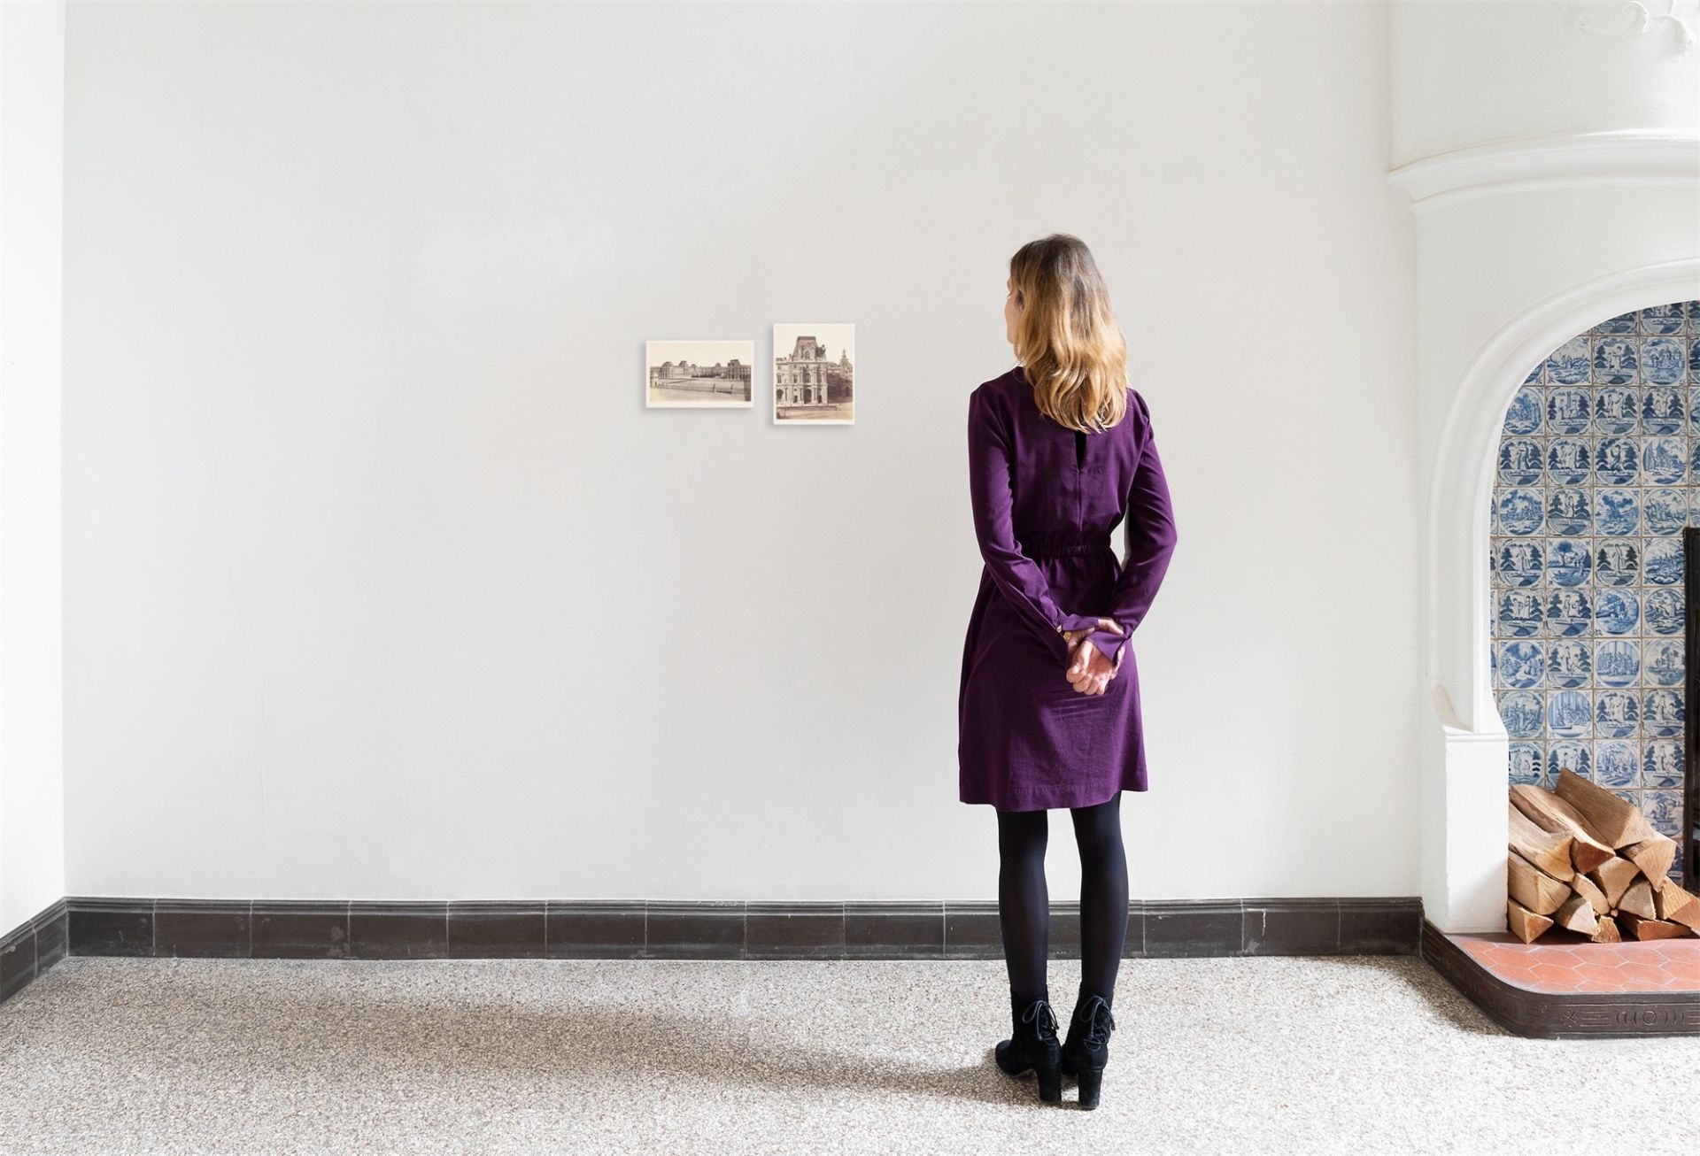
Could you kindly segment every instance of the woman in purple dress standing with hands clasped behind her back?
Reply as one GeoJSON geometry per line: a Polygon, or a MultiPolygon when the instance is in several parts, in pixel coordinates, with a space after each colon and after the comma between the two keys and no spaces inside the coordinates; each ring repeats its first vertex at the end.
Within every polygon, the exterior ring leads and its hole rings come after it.
{"type": "Polygon", "coordinates": [[[1010,967],[1012,1076],[1098,1105],[1127,935],[1120,792],[1146,789],[1139,678],[1127,646],[1175,551],[1151,411],[1091,253],[1054,233],[1010,258],[1003,303],[1015,369],[969,396],[974,534],[986,559],[957,699],[962,802],[998,814],[998,916],[1010,967]],[[1112,530],[1122,524],[1127,558],[1112,530]],[[1068,1039],[1046,986],[1049,808],[1080,845],[1081,983],[1068,1039]]]}

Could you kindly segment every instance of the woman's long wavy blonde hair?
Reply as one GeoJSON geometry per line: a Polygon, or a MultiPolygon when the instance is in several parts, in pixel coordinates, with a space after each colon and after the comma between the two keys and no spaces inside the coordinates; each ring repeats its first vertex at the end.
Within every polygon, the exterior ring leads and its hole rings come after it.
{"type": "Polygon", "coordinates": [[[1015,359],[1039,411],[1088,434],[1127,413],[1127,340],[1110,291],[1078,236],[1052,233],[1010,258],[1015,289],[1015,359]]]}

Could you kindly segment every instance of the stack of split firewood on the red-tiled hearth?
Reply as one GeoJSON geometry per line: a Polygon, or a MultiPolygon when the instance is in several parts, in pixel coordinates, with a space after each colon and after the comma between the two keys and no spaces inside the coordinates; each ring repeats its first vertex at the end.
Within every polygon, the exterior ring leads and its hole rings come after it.
{"type": "Polygon", "coordinates": [[[1511,787],[1506,923],[1525,944],[1564,926],[1596,944],[1700,933],[1700,899],[1669,879],[1676,840],[1569,768],[1511,787]]]}

